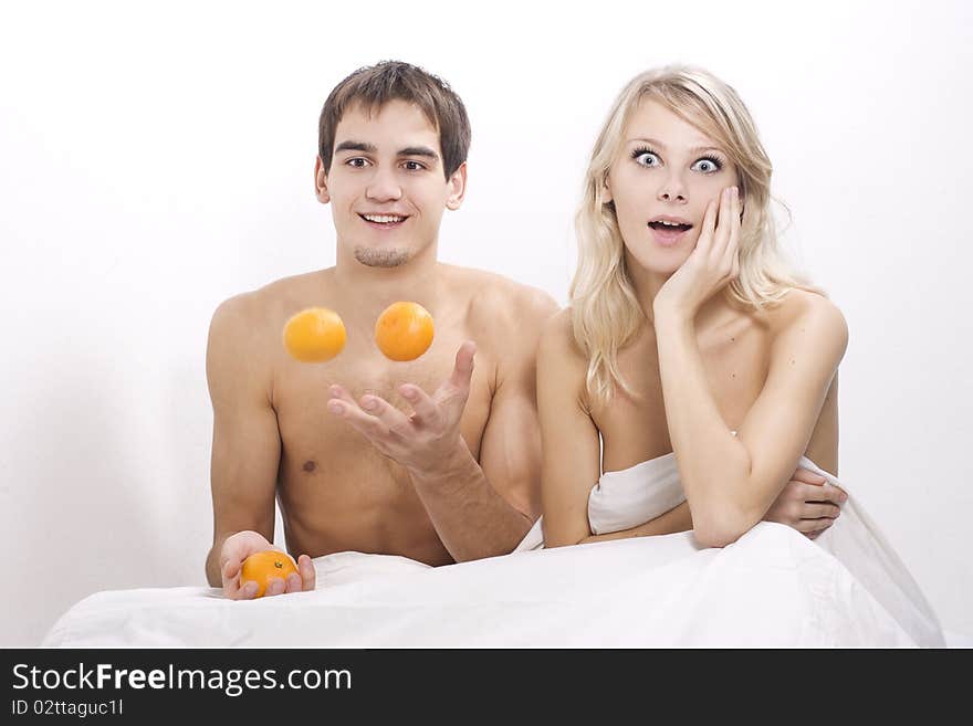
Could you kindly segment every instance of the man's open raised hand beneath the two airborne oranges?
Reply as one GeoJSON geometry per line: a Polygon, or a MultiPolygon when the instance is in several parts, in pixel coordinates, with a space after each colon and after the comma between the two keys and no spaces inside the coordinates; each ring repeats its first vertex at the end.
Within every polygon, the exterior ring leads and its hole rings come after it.
{"type": "Polygon", "coordinates": [[[457,351],[452,375],[432,396],[412,383],[400,386],[399,393],[412,407],[411,415],[370,393],[355,401],[337,385],[331,387],[327,408],[389,459],[410,472],[428,472],[449,462],[462,442],[460,420],[470,394],[475,353],[472,340],[463,343],[457,351]]]}

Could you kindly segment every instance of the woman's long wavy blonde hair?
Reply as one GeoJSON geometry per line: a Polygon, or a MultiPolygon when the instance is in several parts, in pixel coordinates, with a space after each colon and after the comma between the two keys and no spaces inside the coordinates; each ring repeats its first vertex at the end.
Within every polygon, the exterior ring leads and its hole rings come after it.
{"type": "Polygon", "coordinates": [[[794,272],[781,253],[770,210],[771,160],[736,92],[701,69],[666,66],[637,75],[616,98],[595,141],[575,217],[578,266],[569,291],[572,332],[588,359],[588,394],[601,403],[611,399],[615,386],[631,394],[618,370],[618,350],[646,319],[626,271],[615,206],[605,196],[626,125],[647,97],[720,144],[736,167],[744,202],[740,275],[725,295],[761,309],[780,302],[789,288],[820,292],[794,272]]]}

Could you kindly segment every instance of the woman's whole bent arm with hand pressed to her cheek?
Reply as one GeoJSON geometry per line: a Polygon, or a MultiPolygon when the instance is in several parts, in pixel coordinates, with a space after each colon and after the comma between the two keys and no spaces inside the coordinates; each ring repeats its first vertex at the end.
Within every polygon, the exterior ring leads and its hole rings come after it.
{"type": "Polygon", "coordinates": [[[709,388],[694,319],[740,274],[740,210],[736,187],[707,206],[693,251],[652,301],[669,436],[697,539],[710,547],[753,527],[781,493],[807,449],[848,344],[845,319],[828,299],[812,294],[785,301],[764,388],[732,435],[709,388]]]}

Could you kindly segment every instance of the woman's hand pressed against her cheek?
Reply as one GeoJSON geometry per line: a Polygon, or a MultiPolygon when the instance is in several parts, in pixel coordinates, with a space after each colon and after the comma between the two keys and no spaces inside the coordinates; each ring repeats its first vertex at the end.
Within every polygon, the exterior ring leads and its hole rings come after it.
{"type": "Polygon", "coordinates": [[[740,196],[728,187],[707,206],[695,248],[662,285],[652,308],[656,316],[693,319],[700,306],[740,274],[740,196]]]}

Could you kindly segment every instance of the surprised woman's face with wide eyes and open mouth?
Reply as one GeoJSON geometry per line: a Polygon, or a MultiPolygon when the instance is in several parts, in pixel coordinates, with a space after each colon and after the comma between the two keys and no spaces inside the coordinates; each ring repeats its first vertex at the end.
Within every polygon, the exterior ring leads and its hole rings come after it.
{"type": "Polygon", "coordinates": [[[699,239],[710,201],[739,186],[729,155],[694,126],[644,98],[608,172],[609,198],[634,261],[671,274],[699,239]]]}

